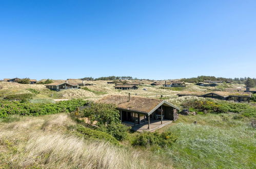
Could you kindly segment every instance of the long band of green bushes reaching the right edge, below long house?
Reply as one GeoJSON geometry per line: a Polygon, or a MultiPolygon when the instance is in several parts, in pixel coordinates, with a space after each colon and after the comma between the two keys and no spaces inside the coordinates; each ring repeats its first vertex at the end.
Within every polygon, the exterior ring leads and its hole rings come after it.
{"type": "Polygon", "coordinates": [[[206,110],[208,113],[241,113],[245,116],[255,117],[256,109],[248,103],[234,103],[227,101],[215,102],[213,100],[189,100],[183,103],[184,107],[196,109],[198,111],[206,110]]]}

